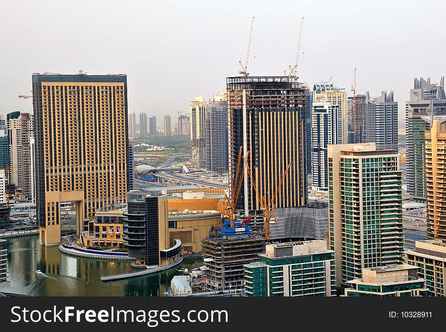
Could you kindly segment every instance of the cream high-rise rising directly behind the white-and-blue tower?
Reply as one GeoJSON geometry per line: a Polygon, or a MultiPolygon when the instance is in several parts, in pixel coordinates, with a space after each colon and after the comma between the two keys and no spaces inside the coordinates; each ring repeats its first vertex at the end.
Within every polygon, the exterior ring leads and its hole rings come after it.
{"type": "Polygon", "coordinates": [[[326,101],[331,105],[339,105],[341,112],[341,135],[340,144],[347,144],[347,92],[345,89],[337,88],[333,83],[320,82],[313,86],[313,102],[326,101]]]}

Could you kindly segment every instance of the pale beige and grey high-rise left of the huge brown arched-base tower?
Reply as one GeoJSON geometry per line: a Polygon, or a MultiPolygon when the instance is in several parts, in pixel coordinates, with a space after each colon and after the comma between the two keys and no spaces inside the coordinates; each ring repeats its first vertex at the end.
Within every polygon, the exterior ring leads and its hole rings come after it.
{"type": "Polygon", "coordinates": [[[21,113],[18,117],[11,116],[8,120],[9,140],[9,182],[14,183],[22,193],[22,199],[32,200],[31,182],[31,147],[30,140],[34,137],[32,115],[21,113]]]}

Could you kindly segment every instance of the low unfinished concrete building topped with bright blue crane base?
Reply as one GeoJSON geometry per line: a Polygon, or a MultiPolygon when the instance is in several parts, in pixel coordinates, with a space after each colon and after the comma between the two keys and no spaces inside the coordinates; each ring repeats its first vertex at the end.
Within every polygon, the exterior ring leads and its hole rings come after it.
{"type": "Polygon", "coordinates": [[[203,239],[206,264],[206,290],[240,289],[243,286],[244,264],[258,260],[265,253],[266,238],[251,234],[249,221],[225,222],[221,230],[210,231],[203,239]]]}

